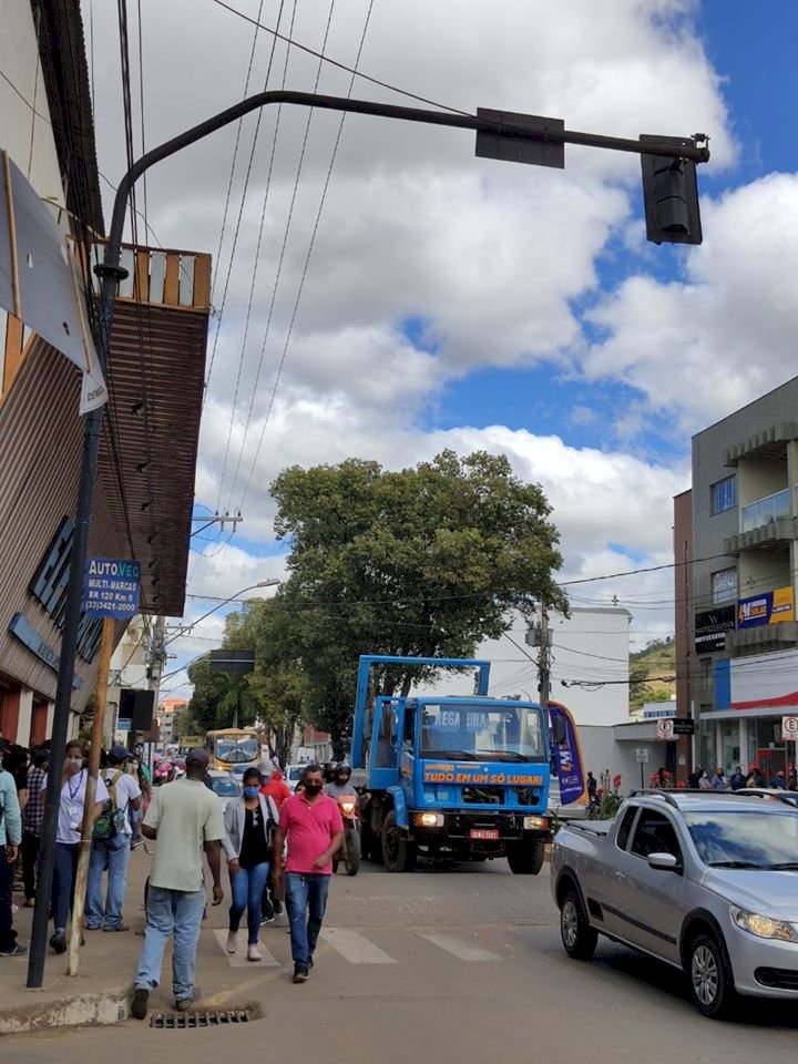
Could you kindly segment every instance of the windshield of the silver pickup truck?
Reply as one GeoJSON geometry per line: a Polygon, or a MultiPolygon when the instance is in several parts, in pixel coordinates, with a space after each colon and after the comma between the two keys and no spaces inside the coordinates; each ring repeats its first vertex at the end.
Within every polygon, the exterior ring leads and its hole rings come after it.
{"type": "Polygon", "coordinates": [[[685,812],[698,857],[715,868],[798,868],[798,815],[728,810],[685,812]]]}

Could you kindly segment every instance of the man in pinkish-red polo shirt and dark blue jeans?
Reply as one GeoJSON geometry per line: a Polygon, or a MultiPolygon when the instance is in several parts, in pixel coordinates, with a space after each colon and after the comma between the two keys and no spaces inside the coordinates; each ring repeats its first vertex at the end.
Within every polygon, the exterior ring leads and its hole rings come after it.
{"type": "Polygon", "coordinates": [[[327,906],[332,857],[344,838],[338,804],[323,792],[321,766],[308,765],[303,773],[303,794],[291,795],[283,804],[274,843],[277,888],[285,874],[295,983],[304,983],[313,968],[327,906]],[[288,851],[284,860],[286,841],[288,851]]]}

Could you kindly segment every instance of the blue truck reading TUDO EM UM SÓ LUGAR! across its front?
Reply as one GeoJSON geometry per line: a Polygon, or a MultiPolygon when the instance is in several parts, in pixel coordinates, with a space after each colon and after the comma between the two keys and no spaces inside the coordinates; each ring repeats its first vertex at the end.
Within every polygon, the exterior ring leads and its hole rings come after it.
{"type": "MultiPolygon", "coordinates": [[[[351,763],[369,795],[362,847],[389,872],[412,871],[419,852],[541,870],[551,840],[549,715],[538,703],[489,697],[489,676],[485,661],[360,658],[351,763]],[[372,671],[397,665],[475,669],[477,694],[370,696],[372,671]]],[[[563,720],[552,724],[559,748],[563,720]]]]}

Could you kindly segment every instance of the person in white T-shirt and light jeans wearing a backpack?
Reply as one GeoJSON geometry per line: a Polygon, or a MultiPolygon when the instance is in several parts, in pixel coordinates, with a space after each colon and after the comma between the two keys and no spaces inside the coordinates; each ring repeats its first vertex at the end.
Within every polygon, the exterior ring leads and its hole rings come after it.
{"type": "Polygon", "coordinates": [[[127,931],[122,920],[127,861],[132,836],[130,810],[141,809],[142,792],[137,780],[125,771],[129,753],[124,746],[112,746],[108,754],[108,768],[100,776],[105,782],[111,808],[94,826],[91,856],[89,858],[89,887],[86,890],[86,931],[127,931]],[[105,900],[102,896],[102,877],[108,872],[105,900]]]}

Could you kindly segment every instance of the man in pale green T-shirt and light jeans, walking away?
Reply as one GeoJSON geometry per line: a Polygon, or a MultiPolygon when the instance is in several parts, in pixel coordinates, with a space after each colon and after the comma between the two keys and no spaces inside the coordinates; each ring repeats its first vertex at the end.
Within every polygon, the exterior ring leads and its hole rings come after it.
{"type": "Polygon", "coordinates": [[[200,998],[194,985],[196,947],[205,910],[203,850],[213,877],[213,903],[222,904],[222,805],[203,782],[208,755],[193,749],[186,775],[153,791],[142,822],[145,839],[157,840],[150,872],[144,947],[139,960],[131,1012],[144,1020],[150,991],[161,981],[166,942],[172,947],[172,990],[175,1009],[185,1012],[200,998]]]}

